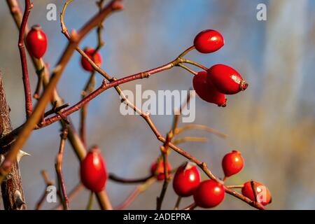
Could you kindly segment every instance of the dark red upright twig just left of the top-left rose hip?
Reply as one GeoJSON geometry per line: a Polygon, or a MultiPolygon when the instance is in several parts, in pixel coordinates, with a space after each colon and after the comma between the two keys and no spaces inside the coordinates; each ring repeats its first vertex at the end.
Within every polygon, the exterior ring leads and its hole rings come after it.
{"type": "Polygon", "coordinates": [[[20,26],[19,32],[19,43],[18,47],[20,50],[20,59],[22,64],[22,80],[24,85],[24,92],[25,92],[25,111],[26,116],[29,118],[31,116],[31,112],[33,111],[33,105],[31,102],[31,85],[29,85],[29,70],[27,69],[27,58],[25,53],[25,28],[27,25],[27,20],[29,18],[29,13],[31,13],[31,8],[33,8],[33,3],[30,0],[25,0],[25,11],[22,18],[22,23],[20,26]]]}

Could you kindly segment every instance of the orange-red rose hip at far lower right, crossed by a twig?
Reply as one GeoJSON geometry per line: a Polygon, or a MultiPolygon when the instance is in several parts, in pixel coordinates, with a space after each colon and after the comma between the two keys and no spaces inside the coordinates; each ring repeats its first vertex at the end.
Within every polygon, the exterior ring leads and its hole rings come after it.
{"type": "MultiPolygon", "coordinates": [[[[257,202],[260,202],[262,205],[267,205],[271,203],[272,197],[269,189],[262,183],[256,181],[254,181],[254,185],[257,191],[257,202]]],[[[247,181],[246,183],[244,183],[244,187],[241,188],[241,193],[242,195],[248,197],[250,200],[255,200],[253,188],[251,187],[251,181],[247,181]]]]}

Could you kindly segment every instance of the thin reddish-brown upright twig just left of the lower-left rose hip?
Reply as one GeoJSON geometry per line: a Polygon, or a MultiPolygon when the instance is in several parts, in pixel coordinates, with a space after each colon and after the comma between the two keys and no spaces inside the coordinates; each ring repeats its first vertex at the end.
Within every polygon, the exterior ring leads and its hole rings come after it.
{"type": "Polygon", "coordinates": [[[59,152],[57,154],[56,165],[55,165],[58,182],[61,187],[62,204],[64,206],[64,210],[69,210],[69,199],[68,199],[68,195],[66,194],[66,185],[64,183],[64,176],[62,174],[62,160],[64,157],[64,144],[66,143],[67,136],[68,136],[68,128],[66,127],[66,125],[64,125],[62,134],[60,134],[59,152]]]}

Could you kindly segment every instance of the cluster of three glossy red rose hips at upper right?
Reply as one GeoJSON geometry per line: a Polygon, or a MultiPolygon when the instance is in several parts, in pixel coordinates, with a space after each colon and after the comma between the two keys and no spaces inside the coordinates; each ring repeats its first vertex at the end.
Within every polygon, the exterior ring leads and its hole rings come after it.
{"type": "MultiPolygon", "coordinates": [[[[223,36],[215,30],[208,29],[195,37],[195,49],[202,53],[211,53],[224,45],[223,36]]],[[[198,96],[218,106],[226,106],[225,94],[236,94],[246,90],[248,84],[241,75],[230,66],[216,64],[208,71],[200,71],[193,78],[193,87],[198,96]]]]}

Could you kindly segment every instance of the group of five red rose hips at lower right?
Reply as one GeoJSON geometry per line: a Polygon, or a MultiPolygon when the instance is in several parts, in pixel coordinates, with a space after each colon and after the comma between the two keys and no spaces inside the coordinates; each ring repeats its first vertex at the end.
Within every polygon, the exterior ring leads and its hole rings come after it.
{"type": "MultiPolygon", "coordinates": [[[[237,174],[244,167],[244,159],[239,151],[232,151],[224,156],[222,160],[223,172],[225,178],[237,174]]],[[[167,165],[168,172],[171,172],[171,166],[167,165]]],[[[151,167],[151,174],[155,175],[159,181],[165,179],[164,163],[161,160],[155,162],[151,167]]],[[[255,199],[251,181],[247,181],[241,187],[241,193],[249,199],[259,201],[262,205],[271,202],[269,190],[262,183],[254,182],[256,192],[265,195],[257,195],[255,199]]],[[[225,186],[215,180],[209,179],[201,181],[200,172],[197,165],[193,162],[185,162],[176,170],[173,179],[173,188],[180,197],[190,197],[193,195],[196,206],[205,209],[216,207],[225,197],[225,186]]]]}

